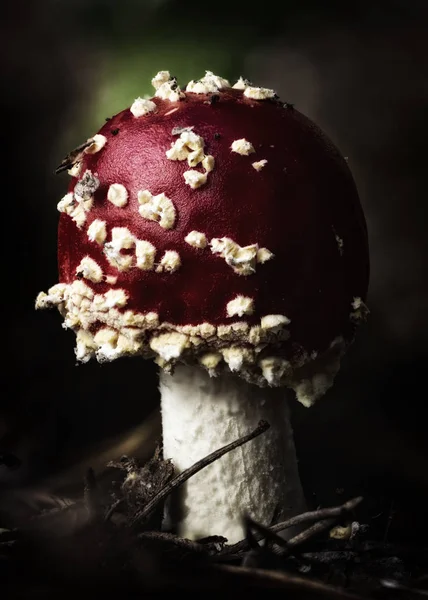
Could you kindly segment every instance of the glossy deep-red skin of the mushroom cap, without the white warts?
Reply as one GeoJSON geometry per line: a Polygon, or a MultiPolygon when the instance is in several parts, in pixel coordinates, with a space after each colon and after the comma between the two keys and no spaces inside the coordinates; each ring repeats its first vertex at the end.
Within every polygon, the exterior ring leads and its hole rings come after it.
{"type": "MultiPolygon", "coordinates": [[[[82,171],[90,169],[100,180],[94,206],[81,229],[68,215],[60,217],[60,281],[76,279],[76,267],[89,255],[104,274],[118,276],[112,287],[127,291],[126,309],[156,311],[161,321],[255,324],[263,315],[283,314],[291,320],[287,344],[310,352],[328,347],[338,335],[351,339],[351,302],[365,299],[369,258],[364,215],[346,161],[297,110],[276,100],[251,100],[234,89],[219,95],[215,103],[209,95],[192,93],[176,103],[155,98],[156,113],[135,118],[127,109],[102,127],[99,133],[107,144],[85,156],[82,171]],[[166,114],[174,108],[178,110],[166,114]],[[215,158],[207,184],[196,190],[184,182],[187,162],[165,155],[177,139],[172,129],[186,126],[204,138],[205,153],[215,158]],[[232,142],[240,138],[250,141],[255,153],[231,152],[232,142]],[[268,162],[258,172],[252,163],[261,159],[268,162]],[[124,208],[107,200],[113,183],[129,192],[124,208]],[[139,215],[137,192],[144,189],[154,195],[164,192],[173,201],[173,229],[139,215]],[[94,219],[106,221],[106,241],[112,227],[127,227],[156,246],[157,261],[165,250],[176,250],[182,266],[175,273],[118,272],[102,247],[88,239],[87,227],[94,219]],[[208,240],[227,236],[241,246],[257,243],[275,257],[258,264],[255,274],[240,276],[209,247],[187,244],[184,238],[191,230],[205,233],[208,240]],[[342,254],[336,235],[343,240],[342,254]],[[237,294],[254,299],[252,316],[227,316],[226,305],[237,294]]],[[[110,287],[86,283],[97,292],[110,287]]]]}

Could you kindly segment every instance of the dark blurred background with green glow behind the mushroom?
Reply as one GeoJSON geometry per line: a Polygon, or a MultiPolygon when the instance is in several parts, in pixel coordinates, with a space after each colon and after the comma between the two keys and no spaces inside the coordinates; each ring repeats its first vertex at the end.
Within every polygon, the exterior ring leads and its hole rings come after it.
{"type": "Polygon", "coordinates": [[[368,323],[326,397],[293,407],[308,502],[361,493],[373,528],[428,533],[427,3],[43,0],[2,12],[0,513],[153,450],[154,366],[76,367],[74,334],[34,300],[57,281],[63,156],[151,93],[158,70],[184,87],[210,69],[272,87],[317,121],[348,157],[367,217],[368,323]]]}

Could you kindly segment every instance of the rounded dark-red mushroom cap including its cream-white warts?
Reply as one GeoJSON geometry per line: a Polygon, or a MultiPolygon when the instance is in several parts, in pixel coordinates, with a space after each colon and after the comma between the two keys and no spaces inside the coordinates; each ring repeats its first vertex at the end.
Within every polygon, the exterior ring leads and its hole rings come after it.
{"type": "Polygon", "coordinates": [[[138,99],[88,141],[59,205],[61,284],[38,303],[59,305],[80,360],[228,365],[309,404],[366,312],[365,219],[325,134],[240,81],[155,78],[172,101],[138,99]]]}

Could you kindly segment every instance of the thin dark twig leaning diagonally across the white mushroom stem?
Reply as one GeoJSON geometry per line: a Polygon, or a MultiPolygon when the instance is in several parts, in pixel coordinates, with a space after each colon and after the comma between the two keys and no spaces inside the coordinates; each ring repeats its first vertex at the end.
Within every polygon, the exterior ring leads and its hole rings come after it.
{"type": "Polygon", "coordinates": [[[202,460],[199,460],[194,465],[192,465],[191,467],[174,477],[174,479],[172,479],[160,492],[153,496],[153,498],[149,500],[149,502],[147,502],[147,504],[141,510],[135,513],[135,515],[129,521],[129,526],[138,527],[139,525],[141,525],[144,522],[144,520],[148,517],[148,515],[155,509],[155,507],[160,502],[162,502],[162,500],[164,500],[167,496],[169,496],[169,494],[171,494],[171,492],[174,489],[182,485],[185,481],[190,479],[190,477],[195,475],[198,471],[201,471],[217,459],[221,458],[224,454],[235,450],[235,448],[238,448],[239,446],[242,446],[243,444],[246,444],[255,437],[261,435],[262,433],[267,431],[269,427],[269,423],[267,423],[266,421],[260,421],[256,429],[251,433],[244,435],[243,437],[239,438],[238,440],[235,440],[234,442],[231,442],[230,444],[227,444],[226,446],[223,446],[223,448],[215,450],[202,460]]]}

